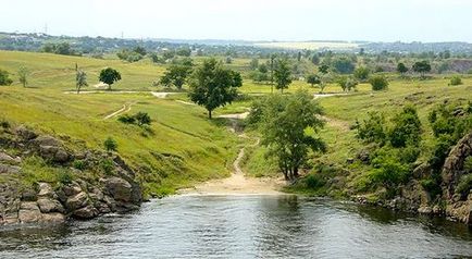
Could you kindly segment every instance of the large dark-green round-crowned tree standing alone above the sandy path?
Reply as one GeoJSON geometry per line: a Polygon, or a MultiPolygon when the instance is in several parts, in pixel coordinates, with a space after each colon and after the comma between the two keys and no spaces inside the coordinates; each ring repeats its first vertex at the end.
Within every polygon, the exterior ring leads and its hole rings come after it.
{"type": "Polygon", "coordinates": [[[203,61],[191,75],[188,97],[211,112],[237,97],[237,88],[243,85],[239,73],[224,69],[215,59],[203,61]]]}

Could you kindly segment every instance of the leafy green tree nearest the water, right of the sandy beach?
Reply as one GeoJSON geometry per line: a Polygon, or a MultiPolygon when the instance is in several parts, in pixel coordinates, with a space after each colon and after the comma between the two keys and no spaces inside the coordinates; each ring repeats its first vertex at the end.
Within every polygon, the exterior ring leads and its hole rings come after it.
{"type": "Polygon", "coordinates": [[[289,97],[271,95],[258,109],[251,111],[262,133],[262,145],[268,156],[277,159],[278,169],[286,180],[299,176],[310,150],[325,151],[326,145],[316,136],[324,122],[316,115],[322,109],[307,91],[289,97]],[[307,134],[310,128],[314,134],[307,134]]]}

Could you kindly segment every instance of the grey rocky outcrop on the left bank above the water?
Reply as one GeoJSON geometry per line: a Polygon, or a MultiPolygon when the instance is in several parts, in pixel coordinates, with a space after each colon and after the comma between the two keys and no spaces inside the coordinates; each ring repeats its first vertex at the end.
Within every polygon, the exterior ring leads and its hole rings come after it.
{"type": "Polygon", "coordinates": [[[119,156],[94,150],[74,152],[63,141],[49,135],[38,136],[25,126],[8,134],[0,136],[0,174],[11,178],[0,183],[0,225],[60,223],[71,218],[86,220],[139,208],[142,201],[140,185],[135,181],[133,169],[119,156]],[[15,149],[21,157],[2,148],[15,149]],[[74,180],[22,186],[18,180],[22,161],[33,155],[41,157],[51,166],[75,172],[74,180]],[[74,159],[92,168],[99,168],[103,160],[110,161],[111,173],[99,174],[98,180],[83,178],[82,171],[71,168],[74,159]]]}

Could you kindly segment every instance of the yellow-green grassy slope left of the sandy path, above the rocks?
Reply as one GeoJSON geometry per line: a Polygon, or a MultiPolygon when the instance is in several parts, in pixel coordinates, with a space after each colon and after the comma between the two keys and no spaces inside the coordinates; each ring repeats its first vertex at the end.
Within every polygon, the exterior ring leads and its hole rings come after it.
{"type": "Polygon", "coordinates": [[[115,67],[123,79],[113,87],[129,90],[147,89],[163,70],[146,63],[0,51],[0,67],[12,74],[20,65],[33,71],[32,88],[23,88],[17,83],[0,87],[0,119],[67,136],[73,146],[85,140],[89,148],[101,148],[103,140],[112,136],[117,140],[120,155],[129,163],[151,169],[152,173],[144,177],[150,182],[147,186],[152,192],[172,192],[175,187],[229,173],[238,140],[223,122],[208,121],[206,111],[197,106],[157,99],[148,94],[64,94],[74,87],[75,63],[87,72],[90,85],[98,82],[96,75],[100,69],[115,67]],[[150,114],[153,134],[146,137],[137,126],[124,125],[116,119],[103,120],[124,103],[133,103],[131,113],[150,114]]]}

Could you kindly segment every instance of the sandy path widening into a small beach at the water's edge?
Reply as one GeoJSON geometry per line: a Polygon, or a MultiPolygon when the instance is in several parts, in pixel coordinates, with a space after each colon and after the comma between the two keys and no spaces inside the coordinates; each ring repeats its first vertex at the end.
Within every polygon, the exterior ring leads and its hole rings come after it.
{"type": "MultiPolygon", "coordinates": [[[[226,114],[224,118],[241,119],[245,113],[226,114]]],[[[233,128],[234,131],[234,128],[233,128]]],[[[245,134],[240,138],[247,138],[245,134]]],[[[247,147],[256,147],[260,143],[259,138],[247,147]]],[[[240,163],[245,157],[247,147],[243,147],[235,161],[233,162],[233,173],[227,178],[213,180],[203,184],[196,185],[194,188],[181,189],[181,195],[282,195],[280,189],[285,185],[283,177],[249,177],[246,176],[240,163]]]]}

